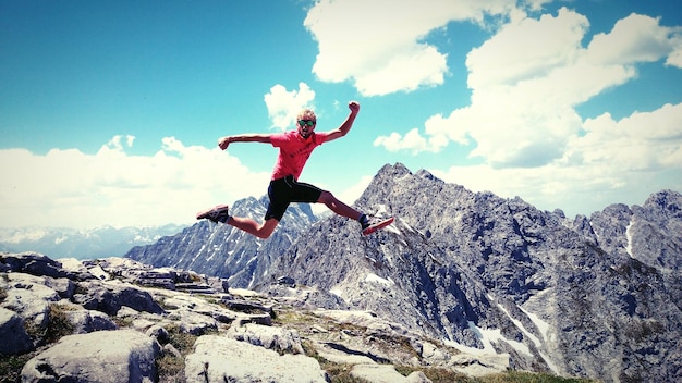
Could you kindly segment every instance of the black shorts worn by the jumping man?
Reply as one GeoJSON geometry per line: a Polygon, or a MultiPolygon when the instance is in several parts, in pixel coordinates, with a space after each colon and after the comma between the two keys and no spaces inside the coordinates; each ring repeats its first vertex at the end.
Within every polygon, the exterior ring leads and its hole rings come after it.
{"type": "Polygon", "coordinates": [[[321,194],[322,189],[309,184],[300,183],[294,180],[293,175],[272,180],[270,181],[270,186],[268,187],[270,205],[268,206],[268,212],[265,213],[265,219],[267,221],[273,218],[281,221],[289,203],[314,203],[319,200],[319,196],[321,194]]]}

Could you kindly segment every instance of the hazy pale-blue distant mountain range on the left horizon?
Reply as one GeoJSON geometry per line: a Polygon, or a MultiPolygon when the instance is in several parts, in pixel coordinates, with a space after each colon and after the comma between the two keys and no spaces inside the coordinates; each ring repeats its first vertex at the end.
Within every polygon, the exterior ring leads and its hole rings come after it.
{"type": "Polygon", "coordinates": [[[93,230],[57,227],[0,227],[0,251],[37,251],[57,258],[94,259],[122,257],[134,246],[153,244],[185,226],[103,226],[93,230]]]}

